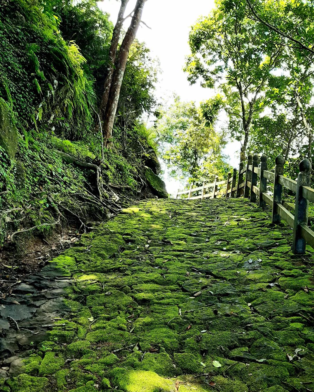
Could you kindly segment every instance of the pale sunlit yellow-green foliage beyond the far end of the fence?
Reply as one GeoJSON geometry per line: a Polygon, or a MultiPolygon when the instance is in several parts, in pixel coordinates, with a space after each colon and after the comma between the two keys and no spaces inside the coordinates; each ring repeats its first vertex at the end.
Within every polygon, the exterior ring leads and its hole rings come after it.
{"type": "Polygon", "coordinates": [[[221,97],[202,103],[175,102],[160,111],[157,134],[170,175],[188,182],[211,180],[215,175],[223,176],[230,167],[221,155],[226,144],[224,132],[214,131],[221,97]]]}

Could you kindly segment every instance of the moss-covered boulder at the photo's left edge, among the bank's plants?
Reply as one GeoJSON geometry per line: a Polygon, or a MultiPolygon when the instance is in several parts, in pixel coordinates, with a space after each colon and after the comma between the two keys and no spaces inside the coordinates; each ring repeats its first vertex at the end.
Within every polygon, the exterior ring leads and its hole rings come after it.
{"type": "Polygon", "coordinates": [[[0,145],[10,158],[15,156],[17,137],[18,133],[12,122],[9,107],[3,100],[0,100],[0,145]]]}

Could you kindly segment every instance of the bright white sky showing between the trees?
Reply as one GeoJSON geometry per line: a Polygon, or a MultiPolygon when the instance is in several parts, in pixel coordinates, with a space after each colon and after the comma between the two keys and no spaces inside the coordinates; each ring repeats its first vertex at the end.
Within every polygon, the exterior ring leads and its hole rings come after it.
{"type": "MultiPolygon", "coordinates": [[[[130,0],[125,15],[131,13],[136,0],[130,0]]],[[[100,9],[110,14],[115,24],[120,7],[120,1],[103,0],[98,3],[100,9]]],[[[199,102],[214,95],[211,89],[204,89],[199,84],[190,86],[183,72],[185,56],[190,53],[188,35],[190,27],[199,16],[210,13],[214,0],[147,0],[144,5],[142,20],[151,28],[141,25],[137,33],[139,41],[146,42],[153,57],[158,57],[161,65],[161,75],[157,85],[158,100],[168,99],[177,93],[184,101],[199,102]]],[[[130,18],[125,21],[125,29],[130,24],[130,18]]],[[[230,143],[225,153],[230,156],[230,164],[238,162],[238,143],[230,143]]],[[[166,177],[166,176],[165,176],[166,177]]],[[[173,193],[178,183],[166,178],[167,190],[173,193]]]]}

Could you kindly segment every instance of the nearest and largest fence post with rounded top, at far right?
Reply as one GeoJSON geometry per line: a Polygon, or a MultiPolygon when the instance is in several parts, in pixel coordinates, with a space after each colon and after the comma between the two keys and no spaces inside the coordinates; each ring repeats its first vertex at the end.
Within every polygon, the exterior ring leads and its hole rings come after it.
{"type": "Polygon", "coordinates": [[[302,186],[309,187],[311,184],[312,165],[308,159],[303,159],[299,163],[299,174],[297,181],[296,207],[294,209],[294,227],[292,252],[294,254],[304,254],[306,241],[301,237],[300,226],[307,225],[309,201],[302,195],[302,186]]]}

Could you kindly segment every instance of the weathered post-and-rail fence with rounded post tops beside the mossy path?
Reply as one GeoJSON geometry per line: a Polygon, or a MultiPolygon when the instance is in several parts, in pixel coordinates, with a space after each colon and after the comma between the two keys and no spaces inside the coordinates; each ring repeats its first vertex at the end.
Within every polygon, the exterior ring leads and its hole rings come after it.
{"type": "Polygon", "coordinates": [[[252,202],[258,199],[260,207],[265,208],[269,205],[272,209],[273,223],[280,223],[282,218],[293,229],[292,252],[304,254],[307,243],[314,249],[314,231],[307,225],[309,202],[314,203],[314,189],[310,187],[311,163],[307,159],[299,163],[300,172],[297,181],[283,175],[283,163],[283,156],[278,155],[274,171],[268,171],[266,155],[262,155],[259,159],[257,154],[254,156],[250,154],[246,167],[243,162],[240,163],[238,176],[237,169],[234,169],[233,173],[228,174],[226,181],[214,181],[212,184],[203,184],[199,188],[191,187],[189,191],[178,192],[178,195],[188,193],[189,200],[215,198],[222,194],[225,194],[226,198],[244,196],[252,202]],[[272,196],[267,194],[267,181],[272,184],[272,196]],[[218,184],[227,185],[226,191],[218,192],[218,184]],[[214,190],[208,194],[204,193],[204,190],[210,187],[214,190]],[[282,204],[283,187],[296,194],[294,215],[282,204]],[[200,196],[191,197],[193,192],[200,190],[202,190],[200,196]]]}

